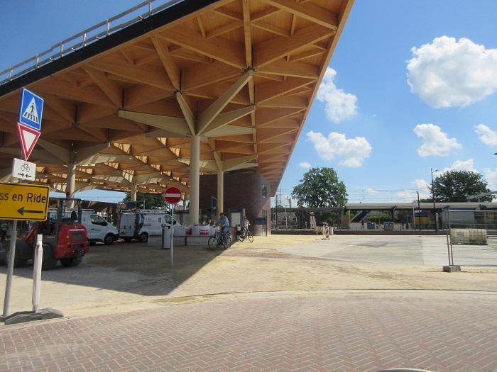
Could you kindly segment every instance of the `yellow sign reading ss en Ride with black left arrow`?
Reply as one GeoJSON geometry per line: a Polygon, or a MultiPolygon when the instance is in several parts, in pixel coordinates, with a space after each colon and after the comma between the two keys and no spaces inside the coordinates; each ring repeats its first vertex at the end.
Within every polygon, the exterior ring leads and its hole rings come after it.
{"type": "Polygon", "coordinates": [[[0,183],[0,219],[44,221],[50,186],[0,183]]]}

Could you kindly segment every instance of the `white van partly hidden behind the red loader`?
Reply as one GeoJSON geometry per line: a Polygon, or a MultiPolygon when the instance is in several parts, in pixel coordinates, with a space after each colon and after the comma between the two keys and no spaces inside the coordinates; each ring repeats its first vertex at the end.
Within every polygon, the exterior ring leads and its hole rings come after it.
{"type": "MultiPolygon", "coordinates": [[[[50,208],[49,218],[55,218],[57,210],[50,208]]],[[[64,218],[71,218],[71,210],[64,213],[64,218]]],[[[111,225],[110,222],[97,215],[93,209],[83,209],[81,215],[81,223],[87,229],[89,242],[104,242],[104,244],[112,244],[119,239],[117,227],[111,225]]]]}

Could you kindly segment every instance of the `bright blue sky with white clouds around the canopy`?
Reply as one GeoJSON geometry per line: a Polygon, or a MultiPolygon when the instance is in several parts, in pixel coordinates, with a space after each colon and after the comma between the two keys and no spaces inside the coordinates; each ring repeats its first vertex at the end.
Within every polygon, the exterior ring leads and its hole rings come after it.
{"type": "MultiPolygon", "coordinates": [[[[2,0],[16,16],[0,23],[0,69],[136,3],[2,0]]],[[[356,0],[283,193],[308,164],[334,167],[351,201],[413,200],[430,167],[476,169],[497,188],[496,14],[493,0],[356,0]]]]}

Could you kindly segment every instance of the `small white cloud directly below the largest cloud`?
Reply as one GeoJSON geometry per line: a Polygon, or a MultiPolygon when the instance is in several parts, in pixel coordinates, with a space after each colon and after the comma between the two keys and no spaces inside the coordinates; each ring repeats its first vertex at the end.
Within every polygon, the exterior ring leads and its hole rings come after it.
{"type": "Polygon", "coordinates": [[[421,147],[417,149],[420,157],[431,155],[443,157],[452,149],[461,147],[455,138],[447,137],[447,133],[442,132],[438,125],[419,124],[414,128],[414,133],[423,140],[421,147]]]}

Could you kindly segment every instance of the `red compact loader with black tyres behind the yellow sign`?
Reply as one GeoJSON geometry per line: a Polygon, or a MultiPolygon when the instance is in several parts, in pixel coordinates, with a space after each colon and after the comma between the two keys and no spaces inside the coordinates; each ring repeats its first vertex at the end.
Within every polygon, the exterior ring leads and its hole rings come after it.
{"type": "Polygon", "coordinates": [[[50,213],[46,221],[33,223],[25,239],[16,242],[14,267],[26,266],[33,259],[38,234],[43,235],[43,270],[55,269],[58,261],[65,267],[77,266],[89,252],[87,229],[81,223],[81,199],[56,200],[57,213],[50,213]]]}

